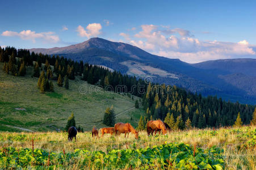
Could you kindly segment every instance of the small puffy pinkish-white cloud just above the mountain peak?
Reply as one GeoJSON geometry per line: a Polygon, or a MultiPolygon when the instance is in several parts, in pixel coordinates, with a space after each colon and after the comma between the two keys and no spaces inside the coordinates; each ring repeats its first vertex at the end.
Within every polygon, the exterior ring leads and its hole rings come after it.
{"type": "Polygon", "coordinates": [[[98,36],[101,32],[100,29],[102,29],[102,25],[99,23],[92,23],[88,24],[86,27],[87,30],[85,30],[81,25],[77,27],[78,35],[81,37],[95,37],[98,36]]]}

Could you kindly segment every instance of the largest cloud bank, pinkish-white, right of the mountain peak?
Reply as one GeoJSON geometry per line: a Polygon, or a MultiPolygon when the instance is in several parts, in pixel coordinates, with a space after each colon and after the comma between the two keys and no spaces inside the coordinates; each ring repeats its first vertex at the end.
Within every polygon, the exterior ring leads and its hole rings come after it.
{"type": "Polygon", "coordinates": [[[255,46],[246,40],[239,42],[199,41],[191,32],[158,25],[141,25],[141,31],[133,36],[120,33],[130,44],[148,52],[182,61],[196,63],[209,59],[242,58],[254,56],[255,46]],[[127,39],[128,37],[128,39],[127,39]]]}

